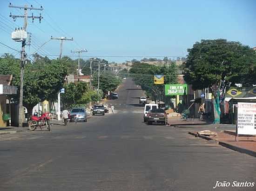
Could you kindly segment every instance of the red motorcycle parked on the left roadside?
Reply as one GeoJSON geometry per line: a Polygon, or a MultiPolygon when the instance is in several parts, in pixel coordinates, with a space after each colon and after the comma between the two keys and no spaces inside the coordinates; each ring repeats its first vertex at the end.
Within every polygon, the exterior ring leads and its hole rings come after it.
{"type": "Polygon", "coordinates": [[[47,127],[48,131],[51,130],[51,124],[50,124],[50,117],[48,115],[49,113],[44,113],[40,117],[37,115],[33,115],[31,119],[27,122],[28,128],[31,131],[34,131],[37,127],[42,128],[47,127]]]}

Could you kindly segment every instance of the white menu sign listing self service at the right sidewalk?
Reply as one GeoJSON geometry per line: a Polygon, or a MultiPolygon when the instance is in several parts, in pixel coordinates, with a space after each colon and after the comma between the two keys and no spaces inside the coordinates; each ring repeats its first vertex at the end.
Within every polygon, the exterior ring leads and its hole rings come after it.
{"type": "Polygon", "coordinates": [[[256,135],[256,103],[237,103],[237,134],[256,135]]]}

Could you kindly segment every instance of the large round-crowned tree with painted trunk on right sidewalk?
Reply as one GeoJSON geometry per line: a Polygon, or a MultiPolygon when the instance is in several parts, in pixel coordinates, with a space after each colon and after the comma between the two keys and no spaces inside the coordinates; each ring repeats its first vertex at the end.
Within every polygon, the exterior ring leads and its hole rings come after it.
{"type": "Polygon", "coordinates": [[[213,90],[215,122],[219,122],[219,92],[225,87],[255,82],[256,54],[249,46],[226,39],[201,40],[188,50],[189,56],[184,64],[184,79],[193,89],[217,87],[213,90]],[[255,73],[254,73],[255,74],[255,73]]]}

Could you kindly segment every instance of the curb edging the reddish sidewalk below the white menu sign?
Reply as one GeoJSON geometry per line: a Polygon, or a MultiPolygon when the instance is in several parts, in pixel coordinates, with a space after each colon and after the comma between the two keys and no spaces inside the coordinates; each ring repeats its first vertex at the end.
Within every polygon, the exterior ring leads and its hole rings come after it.
{"type": "Polygon", "coordinates": [[[189,134],[191,134],[195,137],[200,137],[202,139],[206,139],[206,140],[214,140],[214,141],[217,142],[218,145],[224,146],[226,148],[237,151],[239,153],[245,153],[245,154],[248,154],[250,156],[256,157],[256,152],[255,151],[252,151],[252,150],[249,150],[249,149],[246,149],[246,148],[242,148],[242,147],[239,147],[239,146],[230,145],[229,143],[226,143],[226,142],[223,142],[223,141],[218,141],[218,140],[212,139],[212,138],[204,136],[204,135],[196,134],[194,132],[189,132],[189,134]]]}

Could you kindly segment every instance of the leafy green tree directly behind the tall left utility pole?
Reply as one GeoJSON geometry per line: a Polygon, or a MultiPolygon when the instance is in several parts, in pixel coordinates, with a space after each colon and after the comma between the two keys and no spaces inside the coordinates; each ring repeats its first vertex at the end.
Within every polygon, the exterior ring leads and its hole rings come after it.
{"type": "MultiPolygon", "coordinates": [[[[32,114],[34,105],[44,100],[55,100],[57,93],[62,87],[67,69],[65,63],[59,60],[52,60],[42,63],[39,58],[34,64],[27,62],[24,72],[23,105],[27,108],[28,114],[32,114]]],[[[12,85],[20,86],[20,60],[13,58],[0,58],[0,74],[12,74],[12,85]]],[[[13,95],[14,101],[18,102],[19,89],[17,95],[13,95]]]]}

